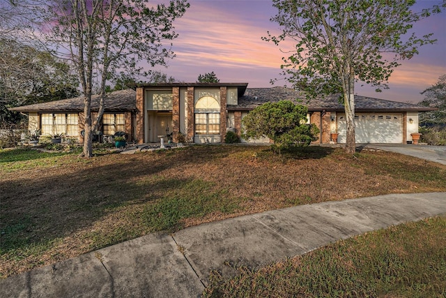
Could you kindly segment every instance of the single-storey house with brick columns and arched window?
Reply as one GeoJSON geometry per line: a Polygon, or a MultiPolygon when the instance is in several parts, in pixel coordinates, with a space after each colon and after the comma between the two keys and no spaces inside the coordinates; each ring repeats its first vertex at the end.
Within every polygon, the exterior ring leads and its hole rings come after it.
{"type": "MultiPolygon", "coordinates": [[[[107,94],[100,125],[103,135],[125,131],[138,143],[159,142],[160,137],[185,135],[194,143],[224,142],[226,131],[240,135],[242,119],[250,110],[268,101],[291,100],[298,103],[298,91],[285,87],[247,88],[247,83],[161,83],[135,84],[133,89],[107,94]]],[[[308,107],[308,123],[321,133],[317,142],[330,143],[330,133],[339,133],[338,142],[346,142],[346,117],[339,94],[300,102],[308,107]]],[[[418,132],[418,113],[433,110],[408,103],[355,96],[357,143],[402,143],[418,132]]],[[[49,103],[26,105],[10,110],[27,113],[29,130],[42,129],[80,136],[83,130],[82,97],[49,103]]],[[[98,111],[98,96],[92,110],[98,111]]],[[[245,140],[242,140],[246,142],[245,140]]],[[[250,141],[253,142],[253,141],[250,141]]],[[[254,142],[269,142],[268,139],[254,142]]]]}

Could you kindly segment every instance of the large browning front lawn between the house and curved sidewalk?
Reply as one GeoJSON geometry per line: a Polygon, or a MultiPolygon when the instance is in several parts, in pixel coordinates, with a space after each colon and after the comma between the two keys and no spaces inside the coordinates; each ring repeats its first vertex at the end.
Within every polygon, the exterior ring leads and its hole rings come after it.
{"type": "Polygon", "coordinates": [[[446,166],[387,152],[203,145],[91,159],[0,151],[0,276],[150,232],[268,209],[446,191],[446,166]]]}

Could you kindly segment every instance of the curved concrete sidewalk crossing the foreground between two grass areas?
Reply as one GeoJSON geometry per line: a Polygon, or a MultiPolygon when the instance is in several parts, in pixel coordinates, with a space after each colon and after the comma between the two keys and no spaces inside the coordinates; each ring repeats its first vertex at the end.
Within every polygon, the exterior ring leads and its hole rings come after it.
{"type": "Polygon", "coordinates": [[[446,193],[302,205],[149,234],[0,280],[0,297],[199,297],[210,270],[258,267],[338,239],[446,214],[446,193]],[[226,265],[225,265],[226,264],[226,265]]]}

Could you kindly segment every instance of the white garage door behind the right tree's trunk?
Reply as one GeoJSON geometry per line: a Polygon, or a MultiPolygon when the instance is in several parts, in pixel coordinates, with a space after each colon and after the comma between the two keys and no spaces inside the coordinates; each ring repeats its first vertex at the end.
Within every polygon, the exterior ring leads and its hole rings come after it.
{"type": "MultiPolygon", "coordinates": [[[[402,143],[402,114],[356,114],[355,135],[357,143],[402,143]]],[[[337,116],[338,142],[345,143],[347,135],[345,114],[337,116]]]]}

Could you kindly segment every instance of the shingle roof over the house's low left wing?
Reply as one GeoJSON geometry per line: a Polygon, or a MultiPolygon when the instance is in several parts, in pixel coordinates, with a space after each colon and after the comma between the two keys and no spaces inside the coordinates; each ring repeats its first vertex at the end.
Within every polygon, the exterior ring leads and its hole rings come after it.
{"type": "MultiPolygon", "coordinates": [[[[136,110],[136,91],[125,89],[106,94],[106,112],[126,112],[136,110]]],[[[98,111],[99,96],[91,98],[91,110],[98,111]]],[[[81,112],[84,110],[84,97],[68,98],[50,101],[48,103],[36,103],[35,105],[24,105],[13,107],[10,110],[17,112],[81,112]]]]}

